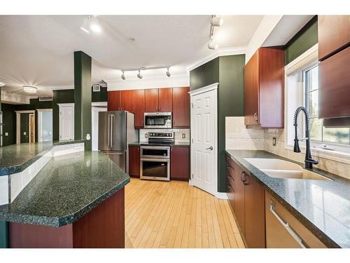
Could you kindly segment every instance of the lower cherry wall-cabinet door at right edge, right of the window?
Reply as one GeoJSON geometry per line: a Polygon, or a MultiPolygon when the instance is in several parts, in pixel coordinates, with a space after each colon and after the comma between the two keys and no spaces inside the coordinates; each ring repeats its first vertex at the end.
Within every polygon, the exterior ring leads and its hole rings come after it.
{"type": "Polygon", "coordinates": [[[319,118],[350,116],[350,47],[318,64],[319,118]]]}

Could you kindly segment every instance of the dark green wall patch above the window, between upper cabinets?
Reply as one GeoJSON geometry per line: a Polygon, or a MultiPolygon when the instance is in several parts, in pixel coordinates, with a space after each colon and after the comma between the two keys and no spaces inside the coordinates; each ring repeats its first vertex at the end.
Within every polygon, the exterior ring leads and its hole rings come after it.
{"type": "Polygon", "coordinates": [[[286,65],[299,57],[306,50],[318,43],[318,25],[317,16],[312,18],[307,25],[305,25],[300,32],[286,44],[285,58],[286,65]]]}

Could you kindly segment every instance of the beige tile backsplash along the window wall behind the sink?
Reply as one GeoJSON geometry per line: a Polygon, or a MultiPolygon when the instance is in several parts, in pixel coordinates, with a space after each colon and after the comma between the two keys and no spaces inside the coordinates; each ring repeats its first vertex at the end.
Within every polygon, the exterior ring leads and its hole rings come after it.
{"type": "MultiPolygon", "coordinates": [[[[297,154],[285,148],[284,129],[247,129],[244,117],[226,117],[225,131],[226,149],[265,150],[304,163],[304,153],[297,154]],[[273,137],[276,138],[276,146],[272,145],[273,137]]],[[[317,168],[350,179],[349,163],[326,159],[315,152],[312,152],[312,156],[318,161],[317,168]]]]}

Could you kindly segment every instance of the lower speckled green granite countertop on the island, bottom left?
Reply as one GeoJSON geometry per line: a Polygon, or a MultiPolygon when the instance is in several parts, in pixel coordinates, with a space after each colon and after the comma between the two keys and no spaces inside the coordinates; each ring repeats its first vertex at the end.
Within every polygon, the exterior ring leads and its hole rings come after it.
{"type": "Polygon", "coordinates": [[[53,157],[12,203],[0,205],[0,220],[61,227],[128,182],[129,175],[101,151],[53,157]]]}

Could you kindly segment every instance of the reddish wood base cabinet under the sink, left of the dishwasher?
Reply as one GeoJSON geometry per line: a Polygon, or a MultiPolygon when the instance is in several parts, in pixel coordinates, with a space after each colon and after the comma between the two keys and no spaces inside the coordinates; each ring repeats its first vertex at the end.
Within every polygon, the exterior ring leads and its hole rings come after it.
{"type": "Polygon", "coordinates": [[[241,236],[248,248],[265,248],[265,190],[232,159],[227,166],[228,196],[241,236]]]}

